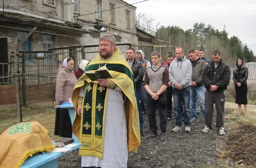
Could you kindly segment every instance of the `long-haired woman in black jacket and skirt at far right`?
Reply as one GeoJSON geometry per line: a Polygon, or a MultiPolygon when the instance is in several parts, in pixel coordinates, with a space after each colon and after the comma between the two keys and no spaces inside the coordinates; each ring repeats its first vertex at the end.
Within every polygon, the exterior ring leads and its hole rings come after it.
{"type": "Polygon", "coordinates": [[[236,103],[239,108],[239,115],[242,114],[241,105],[244,105],[244,116],[247,116],[247,77],[248,68],[245,67],[243,58],[236,60],[236,68],[233,71],[233,80],[236,89],[236,103]]]}

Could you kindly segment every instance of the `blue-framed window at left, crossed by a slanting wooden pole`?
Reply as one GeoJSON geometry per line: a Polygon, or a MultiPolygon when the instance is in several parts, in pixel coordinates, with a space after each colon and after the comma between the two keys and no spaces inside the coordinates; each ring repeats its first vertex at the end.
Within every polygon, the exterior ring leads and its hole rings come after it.
{"type": "MultiPolygon", "coordinates": [[[[26,31],[18,31],[18,35],[17,35],[17,42],[18,44],[23,40],[24,37],[26,37],[26,35],[28,34],[28,32],[26,31]]],[[[29,36],[29,38],[23,43],[22,46],[20,46],[20,48],[18,49],[18,51],[22,52],[22,51],[32,51],[32,40],[31,40],[31,36],[29,36]]],[[[31,62],[31,58],[29,58],[29,62],[31,62]]],[[[19,57],[19,62],[22,63],[22,57],[20,55],[19,57]]]]}

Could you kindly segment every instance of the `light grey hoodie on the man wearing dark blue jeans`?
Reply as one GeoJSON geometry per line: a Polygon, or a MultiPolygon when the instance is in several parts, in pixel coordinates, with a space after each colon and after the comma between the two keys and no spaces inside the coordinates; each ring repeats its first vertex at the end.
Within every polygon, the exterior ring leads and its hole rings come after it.
{"type": "Polygon", "coordinates": [[[186,88],[191,85],[192,77],[192,65],[186,56],[183,56],[182,60],[174,61],[169,66],[169,79],[172,82],[172,87],[175,88],[180,83],[182,88],[186,88]]]}

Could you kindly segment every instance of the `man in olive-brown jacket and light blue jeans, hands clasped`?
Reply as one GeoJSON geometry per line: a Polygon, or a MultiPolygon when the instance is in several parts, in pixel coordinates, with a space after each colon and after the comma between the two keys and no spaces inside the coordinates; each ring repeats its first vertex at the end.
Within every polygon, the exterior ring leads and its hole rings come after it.
{"type": "Polygon", "coordinates": [[[192,119],[190,122],[198,122],[198,114],[196,111],[196,97],[201,105],[203,116],[205,117],[205,107],[204,107],[204,94],[206,88],[204,87],[202,74],[206,64],[204,60],[201,60],[196,56],[194,50],[189,51],[189,60],[192,64],[192,83],[190,85],[190,112],[192,119]]]}

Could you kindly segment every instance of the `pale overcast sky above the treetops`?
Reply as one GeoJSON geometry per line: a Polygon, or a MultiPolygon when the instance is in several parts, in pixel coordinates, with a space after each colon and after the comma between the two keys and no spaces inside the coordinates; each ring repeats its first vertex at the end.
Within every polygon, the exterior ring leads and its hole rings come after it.
{"type": "MultiPolygon", "coordinates": [[[[132,4],[143,0],[124,1],[132,4]]],[[[154,19],[154,29],[159,22],[157,28],[176,25],[184,30],[193,28],[196,22],[219,31],[225,25],[229,37],[239,37],[256,55],[256,0],[148,0],[134,6],[136,16],[141,13],[147,20],[154,19]]]]}

